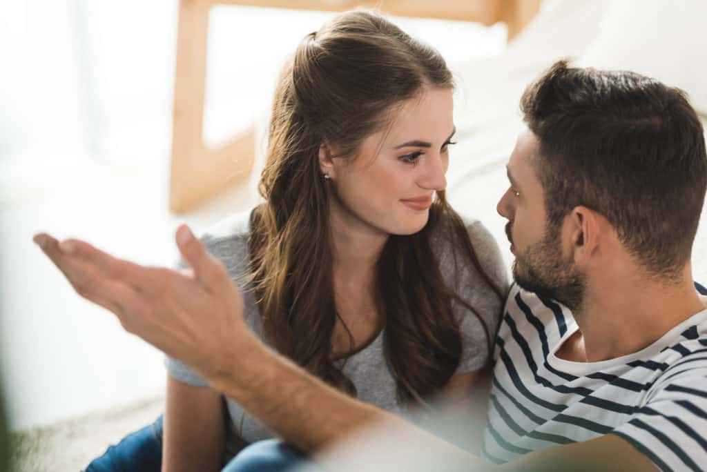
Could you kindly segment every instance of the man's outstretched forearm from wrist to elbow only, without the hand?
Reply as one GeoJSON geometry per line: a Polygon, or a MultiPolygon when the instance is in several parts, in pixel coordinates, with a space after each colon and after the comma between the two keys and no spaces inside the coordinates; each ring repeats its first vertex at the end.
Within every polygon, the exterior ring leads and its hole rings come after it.
{"type": "Polygon", "coordinates": [[[247,341],[238,343],[230,355],[233,367],[214,374],[209,379],[211,385],[238,401],[286,442],[308,454],[326,449],[327,454],[318,458],[322,464],[335,465],[341,471],[365,470],[358,468],[358,454],[348,466],[345,460],[346,451],[350,450],[347,445],[363,442],[369,466],[380,464],[376,462],[380,460],[387,463],[397,453],[401,460],[423,453],[443,457],[459,470],[485,468],[479,459],[462,449],[329,387],[255,338],[249,336],[247,341]],[[332,449],[344,438],[347,441],[343,448],[332,449]]]}

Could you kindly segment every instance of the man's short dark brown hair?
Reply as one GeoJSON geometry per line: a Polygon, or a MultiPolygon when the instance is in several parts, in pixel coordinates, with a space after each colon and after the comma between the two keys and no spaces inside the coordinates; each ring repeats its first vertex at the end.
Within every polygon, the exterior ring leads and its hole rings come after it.
{"type": "Polygon", "coordinates": [[[600,213],[653,276],[689,261],[707,187],[702,125],[686,94],[629,71],[559,61],[520,100],[549,228],[575,206],[600,213]]]}

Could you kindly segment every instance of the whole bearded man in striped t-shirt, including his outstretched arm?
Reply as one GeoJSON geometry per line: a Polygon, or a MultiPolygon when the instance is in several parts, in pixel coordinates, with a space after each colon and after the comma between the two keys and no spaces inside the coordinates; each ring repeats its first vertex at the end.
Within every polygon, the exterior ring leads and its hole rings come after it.
{"type": "MultiPolygon", "coordinates": [[[[527,130],[498,211],[508,218],[515,280],[530,291],[511,290],[498,333],[486,461],[351,399],[256,341],[238,316],[238,290],[186,227],[177,245],[190,278],[78,241],[35,241],[78,293],[304,452],[378,421],[395,429],[377,436],[380,451],[402,460],[423,445],[444,460],[439,468],[700,470],[707,297],[695,290],[690,256],[707,187],[701,124],[679,90],[565,62],[521,105],[527,130]]],[[[364,456],[376,448],[368,446],[364,456]]]]}

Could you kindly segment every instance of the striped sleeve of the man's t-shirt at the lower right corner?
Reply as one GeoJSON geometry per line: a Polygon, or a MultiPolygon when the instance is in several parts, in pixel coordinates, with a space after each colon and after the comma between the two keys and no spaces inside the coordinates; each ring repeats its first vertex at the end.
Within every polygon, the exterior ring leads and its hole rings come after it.
{"type": "Polygon", "coordinates": [[[661,471],[702,471],[707,464],[707,355],[686,356],[628,423],[613,431],[661,471]]]}

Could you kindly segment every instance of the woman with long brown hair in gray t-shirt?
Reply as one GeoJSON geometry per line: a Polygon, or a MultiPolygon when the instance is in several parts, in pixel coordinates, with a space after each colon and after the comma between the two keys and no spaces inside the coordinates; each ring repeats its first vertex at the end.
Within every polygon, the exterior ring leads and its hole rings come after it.
{"type": "MultiPolygon", "coordinates": [[[[381,16],[337,16],[305,37],[277,85],[265,203],[202,238],[257,336],[395,413],[467,399],[506,288],[489,233],[445,200],[452,85],[438,52],[381,16]]],[[[224,422],[221,394],[167,365],[164,470],[218,470],[225,444],[272,437],[231,400],[224,422]]],[[[117,470],[120,456],[145,470],[134,461],[161,436],[158,420],[88,470],[117,470]]]]}

